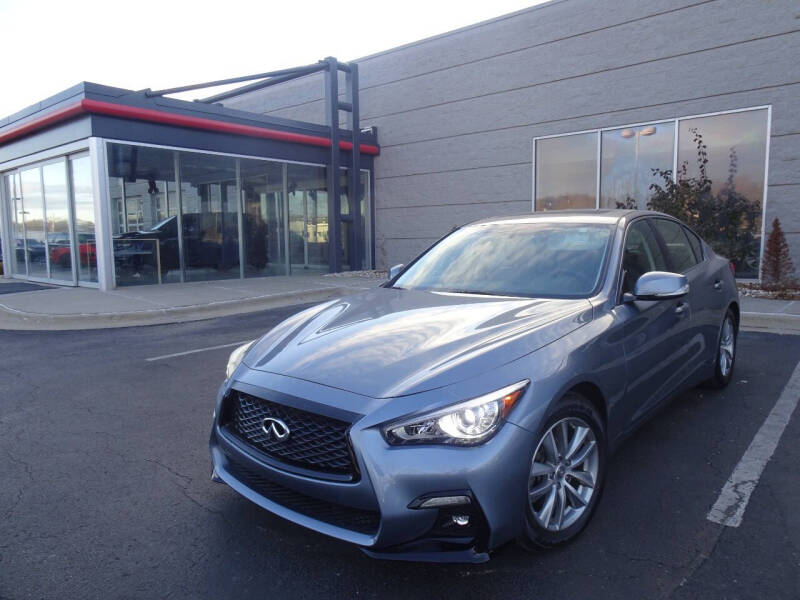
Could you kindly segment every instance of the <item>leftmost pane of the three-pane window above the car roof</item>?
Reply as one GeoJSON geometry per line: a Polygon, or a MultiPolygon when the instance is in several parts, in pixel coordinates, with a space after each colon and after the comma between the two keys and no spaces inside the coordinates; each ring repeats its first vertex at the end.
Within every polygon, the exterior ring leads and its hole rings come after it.
{"type": "Polygon", "coordinates": [[[597,133],[536,140],[536,210],[594,208],[597,133]]]}

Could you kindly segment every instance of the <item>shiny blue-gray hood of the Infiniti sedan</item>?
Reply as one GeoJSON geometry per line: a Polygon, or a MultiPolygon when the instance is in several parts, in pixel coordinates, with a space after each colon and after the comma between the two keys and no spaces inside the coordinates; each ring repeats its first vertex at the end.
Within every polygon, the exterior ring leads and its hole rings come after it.
{"type": "Polygon", "coordinates": [[[261,338],[244,362],[372,398],[415,394],[509,363],[591,319],[585,299],[376,288],[315,306],[261,338]]]}

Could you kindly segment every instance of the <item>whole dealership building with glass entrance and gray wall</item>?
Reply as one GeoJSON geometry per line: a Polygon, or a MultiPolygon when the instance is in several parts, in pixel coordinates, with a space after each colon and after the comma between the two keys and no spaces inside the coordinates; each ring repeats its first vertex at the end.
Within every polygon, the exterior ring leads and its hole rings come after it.
{"type": "Polygon", "coordinates": [[[4,276],[385,268],[475,219],[645,208],[701,168],[750,207],[741,277],[775,217],[800,266],[799,24],[796,0],[552,0],[201,101],[82,83],[0,120],[4,276]]]}

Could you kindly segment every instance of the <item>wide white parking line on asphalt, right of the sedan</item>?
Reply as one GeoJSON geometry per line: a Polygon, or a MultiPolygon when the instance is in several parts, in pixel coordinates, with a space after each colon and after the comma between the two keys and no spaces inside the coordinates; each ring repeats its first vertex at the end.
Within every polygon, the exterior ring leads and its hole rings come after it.
{"type": "Polygon", "coordinates": [[[800,363],[795,367],[789,383],[783,388],[780,398],[708,512],[706,518],[709,521],[728,527],[738,527],[742,524],[750,494],[756,489],[764,467],[772,458],[781,435],[797,407],[798,399],[800,399],[800,363]]]}

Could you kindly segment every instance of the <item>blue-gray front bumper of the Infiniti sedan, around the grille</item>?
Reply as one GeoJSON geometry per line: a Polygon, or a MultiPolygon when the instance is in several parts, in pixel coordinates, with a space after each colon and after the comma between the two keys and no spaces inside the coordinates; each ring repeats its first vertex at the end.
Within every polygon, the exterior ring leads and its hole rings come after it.
{"type": "MultiPolygon", "coordinates": [[[[308,382],[252,371],[244,379],[235,387],[264,398],[277,394],[290,405],[308,408],[307,398],[325,397],[326,405],[367,408],[363,397],[308,382]],[[255,378],[267,385],[254,386],[255,378]]],[[[220,390],[217,414],[227,391],[220,390]]],[[[214,473],[270,512],[357,544],[371,556],[483,562],[489,550],[519,535],[534,443],[527,430],[506,423],[476,447],[392,447],[363,418],[355,420],[349,436],[359,477],[332,481],[276,465],[220,428],[216,418],[210,440],[214,473]],[[420,496],[454,491],[471,496],[468,508],[409,508],[420,496]],[[448,525],[452,514],[465,512],[468,526],[448,525]]]]}

